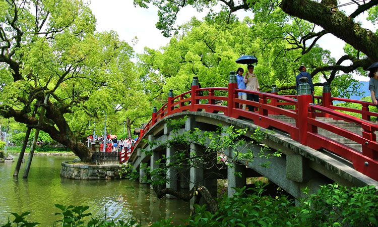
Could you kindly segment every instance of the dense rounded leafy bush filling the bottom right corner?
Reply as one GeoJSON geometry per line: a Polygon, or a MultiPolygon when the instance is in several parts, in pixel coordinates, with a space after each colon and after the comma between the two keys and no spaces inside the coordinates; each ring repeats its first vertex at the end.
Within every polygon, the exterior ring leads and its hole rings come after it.
{"type": "MultiPolygon", "coordinates": [[[[308,190],[303,192],[308,195],[308,190]]],[[[314,226],[376,226],[378,196],[375,186],[347,189],[337,184],[322,186],[301,201],[301,214],[314,226]]]]}

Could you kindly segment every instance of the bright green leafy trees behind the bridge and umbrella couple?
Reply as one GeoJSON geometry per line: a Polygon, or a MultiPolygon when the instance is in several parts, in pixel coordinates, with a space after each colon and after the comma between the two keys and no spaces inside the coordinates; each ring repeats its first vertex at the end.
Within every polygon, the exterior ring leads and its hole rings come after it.
{"type": "MultiPolygon", "coordinates": [[[[227,86],[229,71],[245,68],[245,65],[235,63],[235,59],[243,54],[253,54],[259,59],[255,73],[262,91],[270,92],[272,85],[276,84],[282,94],[296,93],[296,69],[305,64],[312,68],[310,71],[313,71],[311,75],[316,86],[323,86],[320,83],[322,77],[331,84],[335,96],[356,92],[359,82],[349,74],[336,77],[333,72],[322,72],[321,76],[317,75],[315,66],[329,66],[336,60],[330,57],[328,50],[314,42],[309,47],[301,45],[303,40],[300,38],[307,34],[305,31],[312,29],[308,22],[279,24],[278,21],[285,17],[280,10],[271,14],[277,23],[255,17],[253,20],[245,18],[243,22],[232,20],[228,26],[223,26],[226,19],[222,16],[208,15],[204,22],[192,18],[180,26],[179,34],[161,50],[146,48],[145,53],[139,55],[146,75],[144,81],[151,84],[146,90],[153,90],[158,97],[156,100],[164,103],[169,89],[175,94],[190,90],[193,76],[199,77],[202,87],[227,86]]],[[[322,89],[317,92],[321,95],[322,89]]]]}

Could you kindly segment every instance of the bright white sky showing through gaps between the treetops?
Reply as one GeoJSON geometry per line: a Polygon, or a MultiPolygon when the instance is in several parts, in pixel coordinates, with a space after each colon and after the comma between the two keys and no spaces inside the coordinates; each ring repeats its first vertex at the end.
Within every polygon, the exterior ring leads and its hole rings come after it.
{"type": "MultiPolygon", "coordinates": [[[[342,0],[341,4],[343,2],[350,2],[350,0],[342,0]]],[[[134,7],[133,0],[92,0],[90,8],[97,19],[97,31],[116,31],[119,38],[132,45],[136,53],[143,53],[145,46],[159,49],[159,47],[165,46],[169,42],[169,38],[164,37],[161,31],[155,27],[159,18],[157,8],[154,6],[150,6],[149,9],[143,9],[134,7]],[[138,38],[136,39],[137,42],[133,41],[135,37],[138,38]]],[[[351,5],[342,7],[340,10],[350,14],[355,8],[355,5],[351,5]]],[[[185,7],[178,13],[175,25],[181,25],[189,21],[193,16],[196,16],[197,19],[202,19],[206,14],[206,11],[198,13],[193,8],[185,7]]],[[[244,11],[237,12],[239,20],[242,20],[245,16],[252,18],[253,14],[244,11]]],[[[357,17],[355,21],[360,21],[362,27],[375,31],[376,27],[366,21],[365,17],[366,13],[357,17]]],[[[343,47],[345,43],[331,34],[323,36],[318,41],[318,44],[330,50],[331,56],[336,59],[339,59],[344,54],[343,47]]],[[[361,81],[368,81],[367,77],[355,77],[361,81]]]]}

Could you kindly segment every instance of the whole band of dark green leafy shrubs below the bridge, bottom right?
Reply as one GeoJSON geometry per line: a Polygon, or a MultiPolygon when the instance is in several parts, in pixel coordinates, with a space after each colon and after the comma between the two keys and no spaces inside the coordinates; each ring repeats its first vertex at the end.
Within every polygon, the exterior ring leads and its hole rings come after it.
{"type": "MultiPolygon", "coordinates": [[[[219,210],[212,214],[195,205],[186,226],[376,226],[378,196],[374,186],[351,188],[337,184],[322,186],[299,205],[284,195],[263,195],[267,184],[235,189],[233,197],[218,200],[219,210]]],[[[162,226],[162,225],[160,225],[162,226]]]]}

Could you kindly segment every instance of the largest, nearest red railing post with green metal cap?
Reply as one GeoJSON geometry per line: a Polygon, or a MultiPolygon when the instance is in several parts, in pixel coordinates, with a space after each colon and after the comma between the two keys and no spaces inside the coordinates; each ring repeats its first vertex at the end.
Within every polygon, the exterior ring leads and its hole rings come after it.
{"type": "Polygon", "coordinates": [[[299,127],[299,143],[307,145],[307,131],[308,131],[308,105],[312,102],[310,93],[310,86],[307,83],[307,78],[299,79],[301,84],[298,87],[298,127],[299,127]]]}

